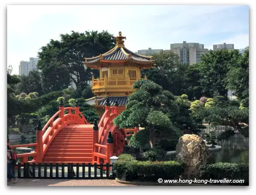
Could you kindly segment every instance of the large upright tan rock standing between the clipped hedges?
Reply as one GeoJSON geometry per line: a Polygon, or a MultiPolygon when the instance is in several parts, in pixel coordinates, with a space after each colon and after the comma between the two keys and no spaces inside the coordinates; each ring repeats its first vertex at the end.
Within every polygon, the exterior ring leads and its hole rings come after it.
{"type": "Polygon", "coordinates": [[[176,145],[175,160],[185,164],[185,173],[191,178],[198,177],[198,169],[210,159],[204,140],[197,135],[185,134],[176,145]]]}

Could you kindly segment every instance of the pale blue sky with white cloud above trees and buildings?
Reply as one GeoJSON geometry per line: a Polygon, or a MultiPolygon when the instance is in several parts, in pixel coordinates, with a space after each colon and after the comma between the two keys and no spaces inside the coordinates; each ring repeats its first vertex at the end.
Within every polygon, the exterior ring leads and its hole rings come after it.
{"type": "Polygon", "coordinates": [[[205,44],[249,45],[248,6],[8,6],[7,66],[18,73],[19,61],[36,57],[50,39],[71,30],[107,30],[126,36],[125,46],[169,49],[183,41],[205,44]]]}

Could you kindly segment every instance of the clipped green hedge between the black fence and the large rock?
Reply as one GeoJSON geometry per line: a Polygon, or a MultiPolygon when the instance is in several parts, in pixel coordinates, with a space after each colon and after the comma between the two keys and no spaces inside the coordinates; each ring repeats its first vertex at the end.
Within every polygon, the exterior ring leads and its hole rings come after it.
{"type": "Polygon", "coordinates": [[[158,178],[179,178],[183,172],[183,165],[176,161],[137,161],[132,159],[119,159],[113,164],[113,173],[119,179],[123,173],[126,181],[155,181],[158,178]]]}

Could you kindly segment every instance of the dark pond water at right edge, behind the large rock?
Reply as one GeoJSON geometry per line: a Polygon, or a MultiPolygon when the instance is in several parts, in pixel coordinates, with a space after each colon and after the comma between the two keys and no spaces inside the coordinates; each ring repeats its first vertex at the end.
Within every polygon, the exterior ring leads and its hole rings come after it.
{"type": "MultiPolygon", "coordinates": [[[[204,139],[204,137],[202,136],[204,139]]],[[[222,147],[219,151],[211,151],[215,163],[249,163],[249,138],[242,135],[231,136],[229,140],[217,141],[222,147]]],[[[175,154],[166,157],[174,160],[175,154]]]]}

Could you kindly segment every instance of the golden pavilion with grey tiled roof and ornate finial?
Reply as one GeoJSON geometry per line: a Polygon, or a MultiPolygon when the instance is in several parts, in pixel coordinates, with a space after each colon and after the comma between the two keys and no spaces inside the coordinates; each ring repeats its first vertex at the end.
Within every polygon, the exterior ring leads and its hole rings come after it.
{"type": "MultiPolygon", "coordinates": [[[[122,32],[115,37],[116,46],[106,53],[95,57],[84,58],[84,67],[99,69],[100,78],[92,79],[92,91],[95,96],[86,102],[96,108],[103,108],[108,96],[110,106],[116,101],[120,107],[127,103],[127,97],[136,89],[132,88],[135,81],[140,79],[140,70],[154,66],[152,56],[134,53],[124,45],[122,32]]],[[[98,110],[98,109],[97,109],[98,110]]]]}

